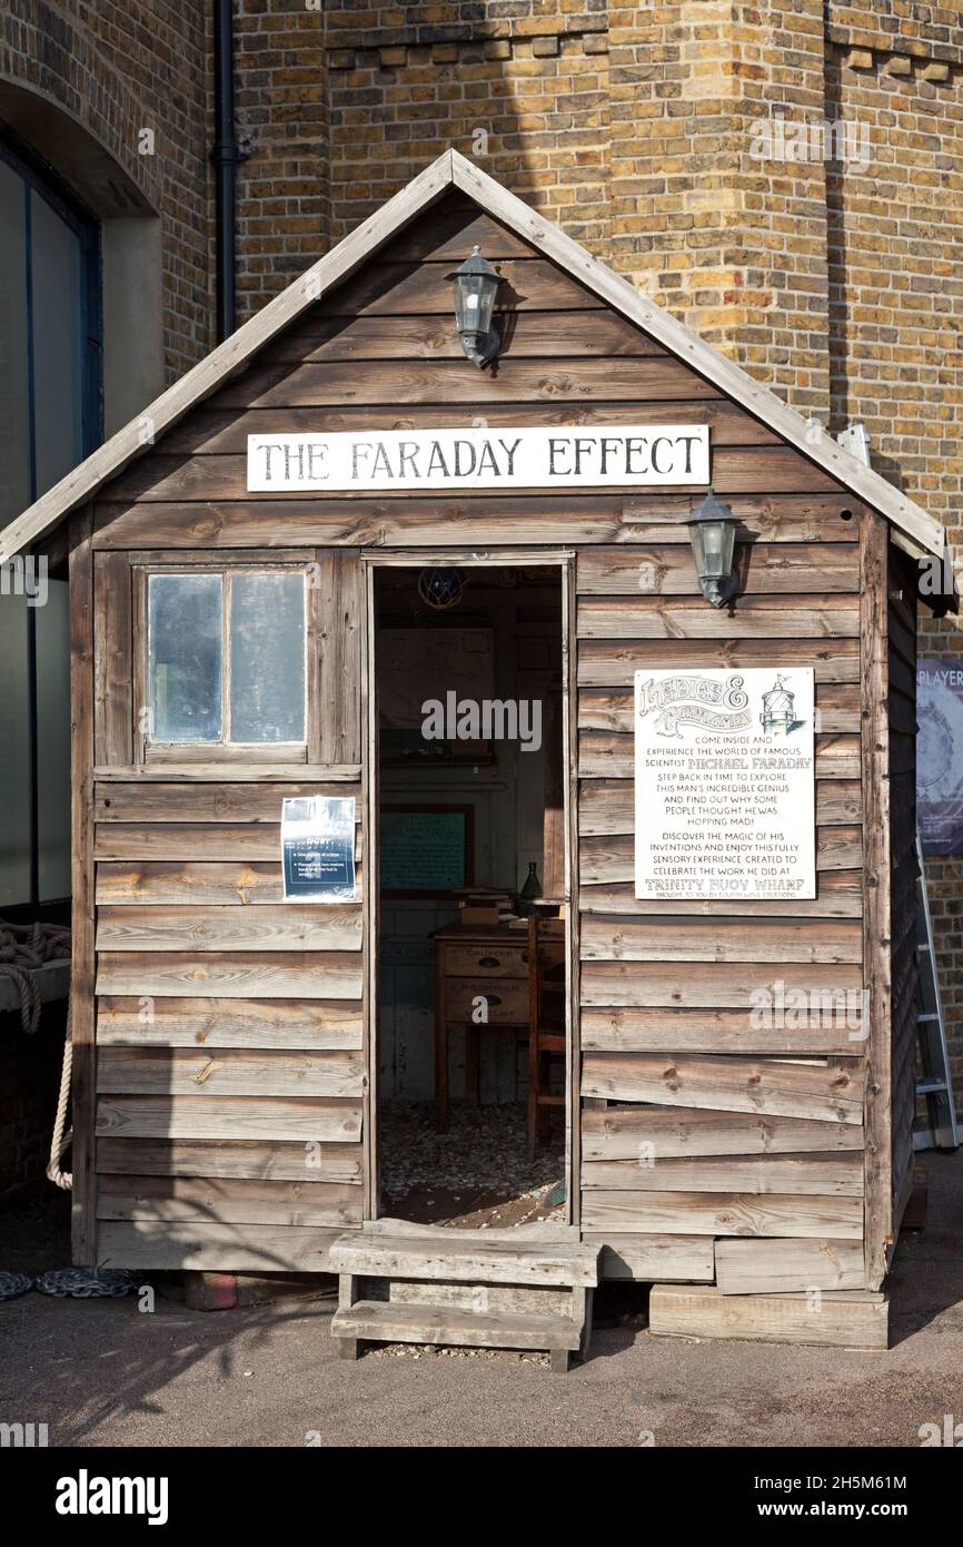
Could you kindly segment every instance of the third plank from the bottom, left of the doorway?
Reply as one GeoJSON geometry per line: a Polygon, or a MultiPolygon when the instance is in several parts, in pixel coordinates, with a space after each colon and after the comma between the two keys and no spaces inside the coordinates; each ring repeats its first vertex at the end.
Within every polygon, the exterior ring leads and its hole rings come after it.
{"type": "Polygon", "coordinates": [[[223,1176],[342,1182],[360,1190],[362,1145],[258,1140],[100,1139],[100,1176],[223,1176]]]}

